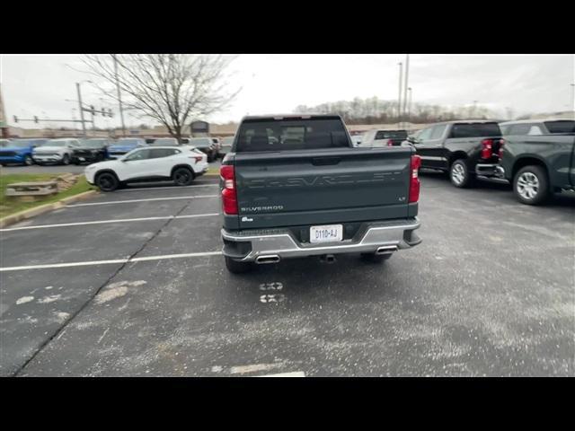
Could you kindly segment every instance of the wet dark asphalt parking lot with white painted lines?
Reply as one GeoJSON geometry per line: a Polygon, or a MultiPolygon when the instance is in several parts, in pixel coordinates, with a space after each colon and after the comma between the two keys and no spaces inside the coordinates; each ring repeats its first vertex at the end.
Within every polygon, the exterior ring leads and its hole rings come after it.
{"type": "Polygon", "coordinates": [[[208,176],[14,224],[0,374],[573,375],[575,198],[527,207],[503,184],[421,183],[423,242],[383,264],[229,274],[208,176]]]}

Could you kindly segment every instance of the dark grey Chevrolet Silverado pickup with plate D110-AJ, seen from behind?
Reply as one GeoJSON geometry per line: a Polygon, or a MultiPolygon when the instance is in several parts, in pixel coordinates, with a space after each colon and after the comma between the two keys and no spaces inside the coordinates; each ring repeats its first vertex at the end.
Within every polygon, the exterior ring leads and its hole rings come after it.
{"type": "Polygon", "coordinates": [[[243,118],[220,167],[227,269],[418,245],[419,167],[410,146],[354,147],[339,116],[243,118]]]}

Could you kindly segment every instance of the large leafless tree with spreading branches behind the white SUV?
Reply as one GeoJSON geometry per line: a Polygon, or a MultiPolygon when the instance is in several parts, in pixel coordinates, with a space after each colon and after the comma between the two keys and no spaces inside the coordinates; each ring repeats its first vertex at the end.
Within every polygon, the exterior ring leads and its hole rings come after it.
{"type": "Polygon", "coordinates": [[[233,57],[132,54],[84,57],[95,85],[140,118],[154,119],[181,142],[189,120],[223,110],[241,89],[226,92],[225,70],[233,57]],[[114,64],[117,62],[117,67],[114,64]]]}

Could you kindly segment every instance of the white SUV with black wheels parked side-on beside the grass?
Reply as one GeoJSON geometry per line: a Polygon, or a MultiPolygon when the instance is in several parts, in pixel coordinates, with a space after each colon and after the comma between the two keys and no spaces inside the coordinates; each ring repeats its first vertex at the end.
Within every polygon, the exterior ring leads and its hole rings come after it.
{"type": "Polygon", "coordinates": [[[208,171],[206,154],[190,146],[137,148],[118,160],[93,163],[84,175],[102,191],[113,191],[127,182],[173,180],[187,186],[208,171]]]}

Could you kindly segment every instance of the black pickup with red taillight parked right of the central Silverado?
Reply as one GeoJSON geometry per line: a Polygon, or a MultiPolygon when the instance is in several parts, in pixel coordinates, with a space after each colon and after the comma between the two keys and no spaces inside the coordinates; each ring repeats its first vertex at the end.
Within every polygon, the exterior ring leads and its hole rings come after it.
{"type": "MultiPolygon", "coordinates": [[[[421,156],[421,167],[449,173],[451,183],[471,187],[477,175],[499,163],[501,131],[490,120],[460,120],[424,128],[407,139],[421,156]]],[[[403,145],[402,145],[403,146],[403,145]]]]}

